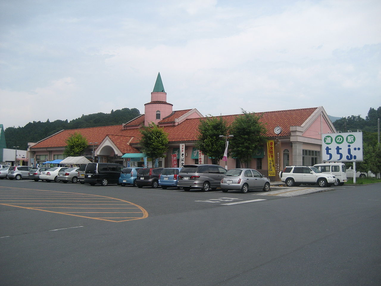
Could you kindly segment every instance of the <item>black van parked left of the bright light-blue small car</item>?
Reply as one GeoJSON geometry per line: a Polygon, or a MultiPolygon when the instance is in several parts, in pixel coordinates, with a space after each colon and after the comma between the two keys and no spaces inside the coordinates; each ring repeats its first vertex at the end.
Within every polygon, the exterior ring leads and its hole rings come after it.
{"type": "Polygon", "coordinates": [[[114,163],[89,163],[85,169],[85,183],[94,186],[96,183],[102,186],[118,184],[120,172],[125,166],[114,163]]]}

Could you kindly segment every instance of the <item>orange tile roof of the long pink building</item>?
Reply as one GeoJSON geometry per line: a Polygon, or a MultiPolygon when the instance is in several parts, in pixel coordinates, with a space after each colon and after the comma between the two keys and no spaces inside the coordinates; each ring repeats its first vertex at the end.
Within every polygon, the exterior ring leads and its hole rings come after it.
{"type": "MultiPolygon", "coordinates": [[[[280,136],[290,136],[290,126],[301,126],[309,116],[317,108],[303,108],[303,109],[290,109],[290,110],[280,110],[280,111],[267,111],[267,112],[256,112],[257,115],[262,114],[261,122],[264,122],[266,125],[266,136],[275,137],[274,127],[279,125],[282,127],[283,131],[280,136]]],[[[186,110],[184,110],[186,111],[186,110]]],[[[181,111],[176,111],[181,114],[181,111]]],[[[186,113],[186,112],[185,112],[186,113]]],[[[184,113],[184,114],[185,114],[184,113]]],[[[222,116],[226,120],[227,124],[231,124],[235,117],[240,116],[240,114],[233,115],[224,115],[222,116]]],[[[140,116],[137,119],[144,116],[140,116]]],[[[204,117],[205,119],[205,117],[204,117]]],[[[201,119],[202,120],[202,119],[201,119]]],[[[195,141],[199,135],[198,126],[200,124],[200,118],[186,119],[181,124],[176,126],[165,126],[163,127],[164,131],[168,133],[168,139],[170,142],[178,141],[195,141]]],[[[84,137],[87,138],[89,142],[99,142],[108,135],[118,148],[123,151],[123,153],[137,153],[137,151],[132,151],[130,145],[127,144],[130,141],[132,143],[139,143],[141,138],[141,133],[139,128],[132,129],[122,129],[122,125],[113,125],[113,126],[104,126],[104,127],[92,127],[92,128],[83,128],[83,129],[71,129],[64,130],[57,133],[45,140],[42,140],[40,143],[37,143],[33,148],[47,148],[47,147],[64,147],[66,146],[65,140],[75,132],[81,133],[84,137]]],[[[134,148],[133,148],[134,149],[134,148]]],[[[136,149],[135,149],[136,150],[136,149]]]]}

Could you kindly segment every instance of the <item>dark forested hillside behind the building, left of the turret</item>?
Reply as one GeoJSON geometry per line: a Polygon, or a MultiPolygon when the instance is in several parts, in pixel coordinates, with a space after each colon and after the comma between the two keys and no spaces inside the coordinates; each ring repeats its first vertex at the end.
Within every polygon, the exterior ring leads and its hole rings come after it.
{"type": "Polygon", "coordinates": [[[6,146],[13,149],[13,146],[19,146],[18,149],[26,150],[28,142],[40,141],[54,133],[63,129],[77,129],[87,127],[99,127],[109,125],[122,125],[140,115],[140,111],[136,108],[123,108],[112,110],[110,113],[94,113],[83,115],[70,122],[66,120],[56,120],[50,122],[33,121],[24,127],[8,127],[5,129],[6,146]]]}

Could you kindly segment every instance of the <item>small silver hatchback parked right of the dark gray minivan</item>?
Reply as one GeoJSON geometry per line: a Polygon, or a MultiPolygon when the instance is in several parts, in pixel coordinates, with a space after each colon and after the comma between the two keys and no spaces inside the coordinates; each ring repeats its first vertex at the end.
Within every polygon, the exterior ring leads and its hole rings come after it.
{"type": "Polygon", "coordinates": [[[270,190],[270,180],[255,169],[238,168],[226,172],[221,180],[221,189],[224,193],[229,190],[238,190],[247,193],[249,190],[270,190]]]}

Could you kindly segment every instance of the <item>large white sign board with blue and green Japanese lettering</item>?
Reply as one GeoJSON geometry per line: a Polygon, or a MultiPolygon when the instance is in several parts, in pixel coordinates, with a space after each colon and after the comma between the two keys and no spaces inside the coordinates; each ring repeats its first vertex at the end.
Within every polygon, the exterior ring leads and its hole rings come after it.
{"type": "Polygon", "coordinates": [[[322,134],[322,160],[363,161],[362,132],[322,134]]]}

